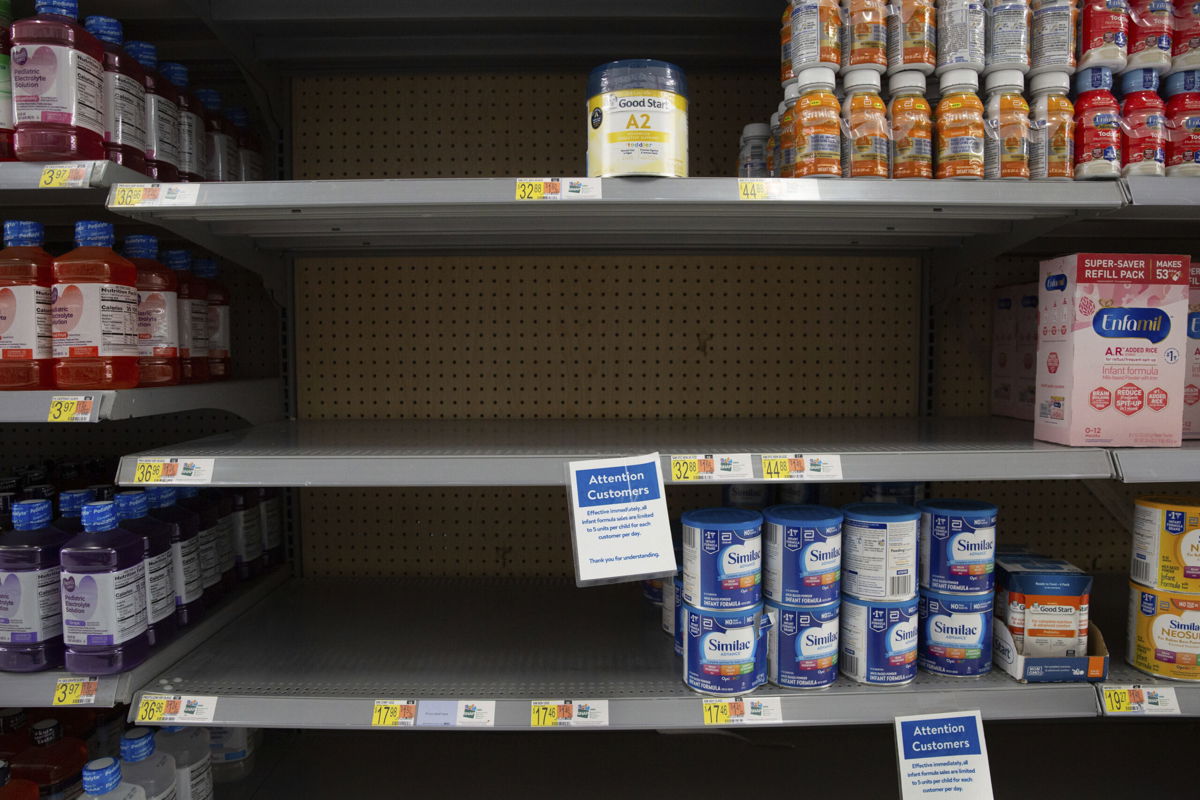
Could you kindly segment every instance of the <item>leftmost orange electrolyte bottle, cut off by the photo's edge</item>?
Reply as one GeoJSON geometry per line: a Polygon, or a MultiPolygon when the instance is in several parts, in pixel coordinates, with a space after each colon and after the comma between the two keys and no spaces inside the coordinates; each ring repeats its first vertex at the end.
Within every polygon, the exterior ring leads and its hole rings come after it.
{"type": "Polygon", "coordinates": [[[54,386],[50,356],[50,265],[42,225],[4,223],[0,251],[0,390],[54,386]]]}

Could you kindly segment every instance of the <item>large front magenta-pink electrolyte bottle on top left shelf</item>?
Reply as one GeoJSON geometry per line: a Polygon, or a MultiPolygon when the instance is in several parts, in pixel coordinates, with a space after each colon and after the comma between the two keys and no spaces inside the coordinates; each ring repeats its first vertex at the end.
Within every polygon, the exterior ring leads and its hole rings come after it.
{"type": "Polygon", "coordinates": [[[20,161],[104,158],[104,48],[76,0],[37,0],[12,24],[13,138],[20,161]]]}

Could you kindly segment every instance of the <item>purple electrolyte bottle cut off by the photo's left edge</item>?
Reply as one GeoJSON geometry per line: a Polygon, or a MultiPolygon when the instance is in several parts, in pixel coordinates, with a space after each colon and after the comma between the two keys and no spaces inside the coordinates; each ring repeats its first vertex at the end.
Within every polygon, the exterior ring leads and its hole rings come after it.
{"type": "Polygon", "coordinates": [[[0,669],[62,666],[59,549],[70,539],[50,528],[49,500],[22,500],[0,536],[0,669]]]}

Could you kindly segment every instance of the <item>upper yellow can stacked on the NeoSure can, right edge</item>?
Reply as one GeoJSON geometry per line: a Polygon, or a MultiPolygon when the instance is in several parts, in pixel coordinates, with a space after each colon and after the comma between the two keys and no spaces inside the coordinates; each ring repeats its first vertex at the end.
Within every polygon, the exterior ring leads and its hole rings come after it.
{"type": "Polygon", "coordinates": [[[1134,501],[1129,577],[1152,589],[1200,594],[1200,500],[1134,501]]]}

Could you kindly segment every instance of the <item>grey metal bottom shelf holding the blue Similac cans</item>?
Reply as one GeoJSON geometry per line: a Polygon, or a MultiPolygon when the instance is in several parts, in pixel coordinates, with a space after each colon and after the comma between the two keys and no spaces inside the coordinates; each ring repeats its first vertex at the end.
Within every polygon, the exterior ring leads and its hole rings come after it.
{"type": "MultiPolygon", "coordinates": [[[[660,620],[628,584],[295,579],[148,688],[215,696],[222,726],[366,729],[374,700],[391,698],[496,700],[497,729],[528,729],[530,700],[576,698],[607,699],[610,728],[703,727],[701,698],[683,685],[660,620]]],[[[965,708],[989,720],[1098,711],[1088,684],[1021,685],[998,673],[757,693],[782,698],[785,724],[965,708]]]]}

